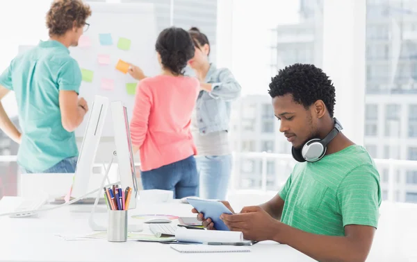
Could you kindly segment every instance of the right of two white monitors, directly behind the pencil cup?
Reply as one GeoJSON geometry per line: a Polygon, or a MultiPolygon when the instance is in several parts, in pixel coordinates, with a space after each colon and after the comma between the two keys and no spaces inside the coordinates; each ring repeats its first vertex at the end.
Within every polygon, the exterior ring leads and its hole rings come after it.
{"type": "Polygon", "coordinates": [[[136,168],[133,160],[129,117],[127,115],[126,107],[121,101],[111,102],[111,114],[120,183],[123,189],[126,189],[127,186],[132,189],[133,195],[131,196],[129,209],[134,209],[136,208],[138,195],[138,182],[136,180],[136,168]]]}

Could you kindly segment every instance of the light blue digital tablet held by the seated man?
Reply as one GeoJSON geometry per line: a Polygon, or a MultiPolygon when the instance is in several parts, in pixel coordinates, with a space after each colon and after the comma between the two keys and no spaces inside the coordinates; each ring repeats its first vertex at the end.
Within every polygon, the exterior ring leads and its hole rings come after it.
{"type": "Polygon", "coordinates": [[[229,227],[224,225],[224,222],[220,219],[222,213],[230,213],[231,211],[220,201],[213,200],[201,200],[187,198],[190,203],[199,213],[204,214],[204,218],[211,218],[214,223],[214,227],[217,230],[229,231],[229,227]]]}

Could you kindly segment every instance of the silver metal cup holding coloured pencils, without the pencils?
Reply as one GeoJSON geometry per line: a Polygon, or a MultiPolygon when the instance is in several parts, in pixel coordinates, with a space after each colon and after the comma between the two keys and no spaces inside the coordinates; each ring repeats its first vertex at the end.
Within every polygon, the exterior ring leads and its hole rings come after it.
{"type": "Polygon", "coordinates": [[[127,210],[108,210],[107,240],[127,241],[127,210]]]}

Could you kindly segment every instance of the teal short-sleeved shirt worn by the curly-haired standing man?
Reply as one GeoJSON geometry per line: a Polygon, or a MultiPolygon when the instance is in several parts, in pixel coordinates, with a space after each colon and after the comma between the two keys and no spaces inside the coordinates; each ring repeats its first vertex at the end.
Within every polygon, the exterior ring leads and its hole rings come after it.
{"type": "Polygon", "coordinates": [[[79,94],[81,69],[66,46],[40,42],[18,55],[0,76],[0,85],[15,91],[22,128],[19,166],[42,172],[79,154],[74,132],[61,122],[59,91],[79,94]]]}

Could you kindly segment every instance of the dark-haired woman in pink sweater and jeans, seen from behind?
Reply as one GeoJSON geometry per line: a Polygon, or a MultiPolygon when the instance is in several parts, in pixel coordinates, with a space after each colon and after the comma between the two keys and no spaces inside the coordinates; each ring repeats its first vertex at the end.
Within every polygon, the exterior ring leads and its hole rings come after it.
{"type": "Polygon", "coordinates": [[[143,189],[164,189],[174,198],[197,195],[199,177],[190,133],[190,119],[199,93],[199,82],[184,76],[194,56],[189,33],[167,28],[156,40],[161,73],[145,78],[138,67],[130,71],[140,80],[136,89],[130,132],[133,150],[140,151],[143,189]]]}

